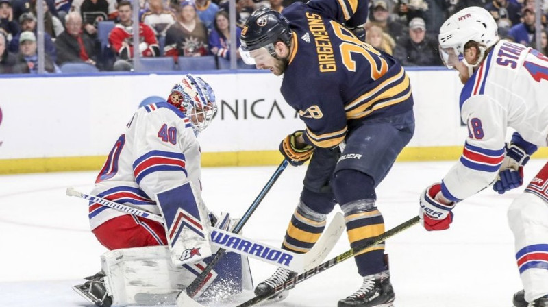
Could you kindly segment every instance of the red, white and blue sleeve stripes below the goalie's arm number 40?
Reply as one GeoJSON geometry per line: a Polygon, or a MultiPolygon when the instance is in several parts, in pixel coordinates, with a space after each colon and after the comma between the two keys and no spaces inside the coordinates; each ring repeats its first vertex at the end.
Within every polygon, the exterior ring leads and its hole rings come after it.
{"type": "Polygon", "coordinates": [[[140,184],[145,176],[156,171],[182,171],[185,176],[188,176],[185,163],[183,153],[160,150],[149,151],[133,163],[135,182],[140,184]]]}

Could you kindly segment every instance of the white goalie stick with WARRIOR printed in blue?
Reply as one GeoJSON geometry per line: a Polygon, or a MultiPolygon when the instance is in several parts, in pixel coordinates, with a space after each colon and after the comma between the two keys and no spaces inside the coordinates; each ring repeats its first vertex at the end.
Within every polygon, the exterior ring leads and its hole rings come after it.
{"type": "MultiPolygon", "coordinates": [[[[137,212],[137,215],[140,217],[151,219],[152,221],[157,221],[162,224],[165,223],[164,219],[162,219],[159,215],[134,209],[130,206],[118,204],[114,201],[103,199],[101,197],[78,192],[73,188],[67,188],[66,195],[87,199],[121,212],[131,214],[135,214],[135,212],[137,212]]],[[[296,254],[291,251],[279,249],[278,247],[253,241],[234,232],[227,232],[219,228],[212,228],[211,243],[212,245],[219,247],[219,249],[234,251],[236,254],[248,256],[250,258],[270,263],[271,265],[276,265],[277,267],[284,267],[290,271],[301,273],[308,271],[308,269],[314,267],[314,265],[323,260],[325,256],[329,254],[329,251],[333,249],[335,243],[338,241],[338,238],[340,238],[340,235],[343,234],[344,230],[345,218],[343,217],[343,214],[338,212],[335,214],[335,217],[332,219],[331,223],[329,223],[325,234],[321,236],[314,247],[312,247],[312,249],[305,254],[296,254]]]]}

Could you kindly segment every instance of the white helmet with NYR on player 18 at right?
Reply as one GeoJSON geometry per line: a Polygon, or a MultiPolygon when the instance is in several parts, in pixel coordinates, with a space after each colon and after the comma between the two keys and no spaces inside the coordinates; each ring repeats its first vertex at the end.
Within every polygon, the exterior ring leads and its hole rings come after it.
{"type": "Polygon", "coordinates": [[[440,56],[447,68],[451,69],[455,61],[462,61],[469,69],[482,62],[485,51],[499,41],[498,27],[493,16],[479,6],[460,10],[449,17],[440,27],[438,42],[440,56]],[[473,40],[479,44],[479,60],[469,64],[464,60],[464,45],[473,40]]]}

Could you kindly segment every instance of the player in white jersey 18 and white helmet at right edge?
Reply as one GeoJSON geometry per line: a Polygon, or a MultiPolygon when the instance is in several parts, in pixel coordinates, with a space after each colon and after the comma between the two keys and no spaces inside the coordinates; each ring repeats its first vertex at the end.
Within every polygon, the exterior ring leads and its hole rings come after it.
{"type": "MultiPolygon", "coordinates": [[[[445,21],[439,43],[445,64],[464,84],[460,111],[469,136],[460,160],[421,195],[419,215],[427,230],[449,228],[458,201],[490,184],[499,193],[521,186],[523,165],[538,146],[548,145],[547,57],[499,40],[497,23],[478,7],[445,21]],[[505,143],[508,127],[516,132],[505,143]]],[[[547,189],[548,164],[508,210],[524,286],[514,295],[517,307],[548,307],[547,189]]]]}

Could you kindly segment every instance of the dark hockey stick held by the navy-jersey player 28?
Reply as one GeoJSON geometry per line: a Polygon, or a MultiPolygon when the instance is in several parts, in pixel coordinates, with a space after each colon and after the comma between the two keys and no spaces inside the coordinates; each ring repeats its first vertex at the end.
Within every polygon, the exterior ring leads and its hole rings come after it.
{"type": "MultiPolygon", "coordinates": [[[[266,195],[266,193],[270,191],[274,182],[276,182],[276,180],[279,178],[279,175],[282,175],[282,171],[286,169],[287,164],[288,164],[288,160],[286,159],[284,159],[284,161],[282,161],[282,163],[279,164],[279,167],[276,169],[276,171],[270,178],[269,182],[266,182],[266,185],[264,186],[264,188],[262,188],[262,191],[260,191],[259,195],[257,195],[256,199],[253,201],[253,204],[251,204],[251,206],[249,206],[249,209],[247,209],[247,211],[242,215],[242,219],[240,219],[240,221],[238,221],[236,226],[234,226],[234,230],[232,230],[232,232],[237,234],[238,232],[240,232],[240,230],[242,230],[245,223],[247,223],[247,220],[249,220],[249,217],[251,217],[251,214],[255,212],[255,210],[261,203],[262,199],[264,199],[264,196],[266,195]]],[[[219,251],[215,253],[214,257],[212,258],[208,266],[205,269],[203,269],[200,275],[198,275],[195,278],[195,280],[188,285],[188,287],[186,287],[186,293],[188,294],[188,296],[190,297],[196,296],[196,294],[199,292],[199,289],[203,286],[203,283],[206,281],[206,278],[208,277],[208,274],[210,273],[210,271],[213,269],[213,267],[215,267],[217,262],[219,262],[219,260],[223,258],[225,251],[226,249],[223,249],[223,248],[219,249],[219,251]]]]}

